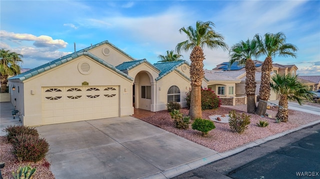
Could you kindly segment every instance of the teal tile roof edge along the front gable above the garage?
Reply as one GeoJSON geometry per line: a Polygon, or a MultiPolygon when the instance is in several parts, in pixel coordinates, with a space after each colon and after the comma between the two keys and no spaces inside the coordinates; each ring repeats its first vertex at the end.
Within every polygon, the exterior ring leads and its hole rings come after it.
{"type": "Polygon", "coordinates": [[[83,51],[83,50],[80,50],[80,51],[78,51],[78,52],[75,52],[75,53],[66,55],[66,56],[61,57],[61,58],[58,58],[58,59],[53,60],[53,61],[51,61],[51,62],[49,62],[49,63],[43,64],[43,65],[38,66],[38,67],[36,67],[36,68],[33,68],[33,69],[29,70],[29,71],[26,71],[26,72],[24,72],[24,73],[20,73],[20,74],[18,74],[18,75],[16,75],[16,76],[13,76],[13,77],[11,77],[11,78],[8,78],[8,80],[14,80],[14,79],[18,79],[18,80],[20,80],[20,81],[26,80],[26,79],[28,79],[28,78],[30,78],[30,77],[32,77],[32,76],[35,76],[35,75],[37,75],[37,74],[40,74],[40,73],[42,73],[42,72],[44,72],[44,71],[47,71],[47,70],[49,70],[49,69],[52,69],[52,68],[54,68],[54,67],[56,67],[56,66],[58,66],[58,65],[60,65],[60,64],[66,63],[66,62],[68,62],[68,61],[70,61],[70,60],[73,60],[74,58],[77,58],[77,57],[82,56],[82,55],[89,56],[90,58],[94,59],[95,61],[97,61],[97,62],[103,64],[104,66],[112,69],[112,70],[115,71],[116,73],[118,73],[118,74],[124,76],[125,78],[133,81],[133,78],[132,78],[132,77],[130,77],[130,76],[128,76],[127,74],[123,73],[122,71],[116,69],[114,66],[112,66],[111,64],[103,61],[102,59],[100,59],[99,57],[93,55],[92,53],[86,52],[86,51],[83,51]]]}

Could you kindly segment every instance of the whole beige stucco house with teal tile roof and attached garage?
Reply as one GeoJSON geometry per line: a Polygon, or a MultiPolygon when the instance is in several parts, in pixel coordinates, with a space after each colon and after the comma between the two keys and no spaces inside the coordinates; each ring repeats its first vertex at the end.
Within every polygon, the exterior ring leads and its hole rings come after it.
{"type": "MultiPolygon", "coordinates": [[[[8,79],[11,103],[23,125],[128,116],[134,108],[186,106],[190,67],[184,60],[135,60],[108,41],[84,48],[8,79]]],[[[204,80],[205,83],[205,80],[204,80]]]]}

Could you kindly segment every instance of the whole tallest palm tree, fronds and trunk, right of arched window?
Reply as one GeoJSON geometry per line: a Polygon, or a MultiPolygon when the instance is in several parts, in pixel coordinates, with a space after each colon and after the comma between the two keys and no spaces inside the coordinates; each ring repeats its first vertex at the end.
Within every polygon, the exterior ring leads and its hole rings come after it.
{"type": "Polygon", "coordinates": [[[223,50],[228,49],[227,44],[223,42],[224,37],[213,30],[214,23],[211,21],[196,21],[195,28],[188,26],[180,28],[180,33],[185,33],[187,40],[176,45],[176,51],[188,51],[192,49],[190,54],[190,109],[189,116],[191,119],[201,118],[201,84],[204,76],[203,72],[203,47],[216,49],[221,47],[223,50]]]}

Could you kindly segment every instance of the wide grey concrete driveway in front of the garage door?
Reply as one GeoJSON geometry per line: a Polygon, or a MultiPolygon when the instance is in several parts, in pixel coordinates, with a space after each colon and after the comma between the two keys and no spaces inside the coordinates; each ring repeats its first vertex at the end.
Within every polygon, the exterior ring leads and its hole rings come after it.
{"type": "Polygon", "coordinates": [[[217,156],[214,150],[133,117],[36,129],[50,145],[46,158],[56,179],[165,179],[217,156]]]}

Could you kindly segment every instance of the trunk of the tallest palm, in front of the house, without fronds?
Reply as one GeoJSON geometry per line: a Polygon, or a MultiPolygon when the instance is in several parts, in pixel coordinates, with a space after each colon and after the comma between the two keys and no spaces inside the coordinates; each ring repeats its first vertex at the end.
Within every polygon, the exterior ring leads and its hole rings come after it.
{"type": "Polygon", "coordinates": [[[191,119],[202,118],[201,112],[201,84],[204,76],[203,72],[203,50],[200,46],[195,46],[190,54],[190,80],[191,99],[189,116],[191,119]]]}

